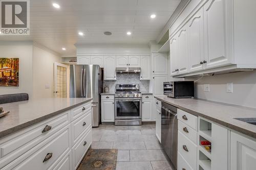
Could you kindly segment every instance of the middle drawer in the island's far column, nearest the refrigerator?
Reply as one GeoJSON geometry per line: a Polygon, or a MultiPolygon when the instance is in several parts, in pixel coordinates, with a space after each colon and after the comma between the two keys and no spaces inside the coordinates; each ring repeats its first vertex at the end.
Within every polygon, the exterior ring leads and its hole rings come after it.
{"type": "Polygon", "coordinates": [[[77,142],[77,140],[83,135],[84,131],[86,131],[89,126],[92,126],[91,110],[78,117],[71,123],[73,144],[77,142]]]}

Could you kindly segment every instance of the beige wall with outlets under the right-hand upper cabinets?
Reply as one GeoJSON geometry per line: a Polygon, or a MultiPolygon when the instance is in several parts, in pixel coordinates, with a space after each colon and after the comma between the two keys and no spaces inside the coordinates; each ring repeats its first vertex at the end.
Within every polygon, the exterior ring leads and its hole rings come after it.
{"type": "Polygon", "coordinates": [[[256,108],[256,70],[206,76],[196,82],[195,89],[200,99],[256,108]],[[233,83],[233,93],[226,92],[228,82],[233,83]],[[210,84],[210,92],[204,92],[204,84],[210,84]]]}

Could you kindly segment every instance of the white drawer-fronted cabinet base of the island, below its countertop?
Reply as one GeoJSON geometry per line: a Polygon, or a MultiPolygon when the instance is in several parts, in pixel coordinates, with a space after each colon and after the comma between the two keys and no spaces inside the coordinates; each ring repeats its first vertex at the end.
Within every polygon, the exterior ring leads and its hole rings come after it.
{"type": "Polygon", "coordinates": [[[76,169],[92,143],[88,104],[0,139],[0,169],[76,169]],[[88,109],[72,120],[73,111],[80,108],[88,109]],[[51,128],[44,131],[46,127],[51,128]]]}

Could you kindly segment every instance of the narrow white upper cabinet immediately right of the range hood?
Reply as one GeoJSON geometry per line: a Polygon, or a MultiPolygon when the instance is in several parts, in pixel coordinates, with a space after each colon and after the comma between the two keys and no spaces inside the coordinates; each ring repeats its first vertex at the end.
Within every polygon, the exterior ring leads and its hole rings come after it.
{"type": "Polygon", "coordinates": [[[141,56],[140,80],[150,80],[150,56],[141,56]]]}

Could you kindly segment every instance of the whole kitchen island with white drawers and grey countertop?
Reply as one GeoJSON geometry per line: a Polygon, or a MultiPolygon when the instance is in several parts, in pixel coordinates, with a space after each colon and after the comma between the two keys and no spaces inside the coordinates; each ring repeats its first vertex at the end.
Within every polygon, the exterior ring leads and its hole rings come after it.
{"type": "Polygon", "coordinates": [[[91,98],[0,105],[0,168],[76,169],[92,143],[91,98]]]}

